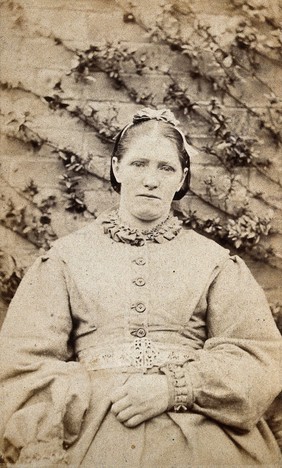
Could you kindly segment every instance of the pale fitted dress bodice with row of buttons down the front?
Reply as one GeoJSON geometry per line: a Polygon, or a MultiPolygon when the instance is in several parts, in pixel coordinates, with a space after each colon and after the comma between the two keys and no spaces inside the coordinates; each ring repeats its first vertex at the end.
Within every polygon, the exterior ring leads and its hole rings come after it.
{"type": "Polygon", "coordinates": [[[193,231],[164,229],[168,239],[136,245],[106,227],[98,222],[54,248],[67,268],[78,359],[106,367],[187,359],[207,339],[207,289],[228,252],[193,231]]]}

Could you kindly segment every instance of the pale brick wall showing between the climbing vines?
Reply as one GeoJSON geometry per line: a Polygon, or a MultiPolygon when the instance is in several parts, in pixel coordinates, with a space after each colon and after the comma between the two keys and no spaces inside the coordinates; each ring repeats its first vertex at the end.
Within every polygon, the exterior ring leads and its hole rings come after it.
{"type": "MultiPolygon", "coordinates": [[[[139,17],[147,25],[154,23],[159,12],[156,0],[137,2],[139,17]]],[[[185,3],[185,2],[184,2],[185,3]]],[[[228,37],[240,21],[237,10],[230,2],[221,0],[188,2],[203,21],[212,26],[212,31],[228,41],[228,37]]],[[[189,88],[195,99],[207,103],[211,95],[211,87],[205,80],[195,80],[189,74],[189,63],[182,55],[177,55],[165,44],[154,43],[136,23],[125,23],[123,20],[126,2],[111,0],[24,0],[1,2],[1,30],[4,36],[1,48],[1,180],[4,187],[6,201],[11,198],[17,207],[26,206],[28,201],[23,197],[22,190],[32,179],[38,186],[38,199],[54,195],[56,206],[52,208],[52,226],[58,237],[79,228],[89,219],[74,215],[65,210],[64,198],[59,187],[59,176],[64,173],[62,161],[54,153],[54,147],[69,149],[87,159],[91,156],[91,170],[83,180],[85,202],[89,211],[99,213],[117,203],[116,194],[109,190],[108,169],[110,146],[105,145],[97,137],[96,132],[69,112],[50,109],[43,96],[56,93],[58,83],[65,102],[75,108],[93,105],[100,110],[101,115],[108,115],[109,107],[118,108],[119,124],[127,122],[127,115],[136,109],[128,94],[122,89],[115,89],[109,78],[102,71],[97,70],[94,80],[76,82],[68,75],[73,66],[75,49],[86,49],[90,44],[100,44],[103,40],[120,40],[129,47],[135,48],[139,55],[146,52],[147,69],[142,78],[125,70],[130,85],[145,93],[153,91],[154,102],[163,105],[166,85],[169,78],[163,70],[170,67],[180,82],[189,88]],[[61,43],[62,41],[62,43],[61,43]],[[158,64],[158,68],[155,65],[158,64]],[[104,114],[103,114],[104,113],[104,114]],[[17,138],[15,128],[19,122],[24,123],[41,138],[47,140],[36,151],[31,145],[24,144],[17,138]],[[48,145],[51,142],[52,145],[48,145]],[[92,173],[96,174],[91,175],[92,173]],[[98,175],[98,177],[97,177],[98,175]]],[[[272,13],[279,15],[279,2],[269,2],[272,13]]],[[[134,10],[135,11],[135,10],[134,10]]],[[[187,34],[191,30],[187,21],[187,34]]],[[[207,57],[208,66],[208,57],[207,57]]],[[[280,94],[281,98],[281,69],[279,63],[264,60],[259,70],[260,78],[280,94]]],[[[238,95],[250,106],[256,109],[266,109],[267,89],[259,81],[246,81],[236,90],[238,95]]],[[[233,128],[239,134],[258,132],[258,124],[252,119],[246,108],[241,107],[230,97],[220,96],[225,112],[230,116],[233,128]]],[[[188,128],[192,143],[196,146],[207,144],[212,138],[207,135],[200,121],[195,123],[182,118],[182,123],[188,128]]],[[[269,174],[279,179],[282,173],[281,154],[279,148],[271,145],[267,136],[262,133],[264,143],[261,152],[271,159],[273,167],[269,174]]],[[[205,196],[206,186],[204,178],[213,175],[223,177],[222,167],[211,156],[198,153],[193,157],[193,191],[205,196]]],[[[269,204],[262,204],[253,200],[253,207],[264,215],[270,205],[274,211],[274,227],[282,230],[281,223],[281,188],[276,183],[261,176],[256,169],[241,169],[246,185],[250,190],[262,192],[269,204]]],[[[243,191],[244,192],[244,191],[243,191]]],[[[242,197],[244,198],[244,193],[242,197]]],[[[238,203],[239,188],[236,194],[238,203]]],[[[5,202],[6,203],[6,202],[5,202]]],[[[2,211],[6,205],[3,202],[2,211]]],[[[200,210],[201,213],[215,212],[211,207],[199,199],[189,195],[183,202],[187,209],[200,210]]],[[[19,266],[26,267],[38,255],[38,247],[19,236],[2,223],[0,226],[0,247],[11,253],[19,266]]],[[[281,235],[273,234],[272,245],[282,252],[281,235]]],[[[260,284],[264,287],[271,302],[282,300],[279,292],[279,271],[261,262],[247,259],[252,271],[260,284]]],[[[3,310],[5,306],[3,305],[3,310]]],[[[3,315],[3,313],[2,313],[3,315]]]]}

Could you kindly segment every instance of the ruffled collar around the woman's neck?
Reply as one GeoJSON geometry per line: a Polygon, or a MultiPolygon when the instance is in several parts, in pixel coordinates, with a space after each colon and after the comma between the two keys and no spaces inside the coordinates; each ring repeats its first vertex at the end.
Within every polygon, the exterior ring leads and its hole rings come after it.
{"type": "Polygon", "coordinates": [[[175,216],[169,215],[165,221],[158,224],[153,229],[141,231],[124,224],[120,220],[117,210],[102,216],[100,222],[103,226],[104,233],[110,236],[115,242],[122,242],[135,246],[142,246],[146,241],[162,244],[163,242],[174,239],[182,229],[182,221],[175,216]]]}

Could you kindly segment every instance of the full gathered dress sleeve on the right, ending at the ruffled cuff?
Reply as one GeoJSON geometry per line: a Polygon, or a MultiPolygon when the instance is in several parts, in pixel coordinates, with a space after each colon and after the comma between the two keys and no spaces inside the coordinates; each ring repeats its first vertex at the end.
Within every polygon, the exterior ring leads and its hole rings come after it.
{"type": "Polygon", "coordinates": [[[230,257],[207,292],[204,348],[183,366],[194,412],[250,430],[281,391],[281,336],[245,263],[230,257]]]}

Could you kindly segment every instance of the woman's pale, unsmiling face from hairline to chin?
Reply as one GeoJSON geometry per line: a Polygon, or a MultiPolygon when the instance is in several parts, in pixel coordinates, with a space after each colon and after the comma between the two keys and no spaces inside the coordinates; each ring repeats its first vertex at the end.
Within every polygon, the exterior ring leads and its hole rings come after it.
{"type": "Polygon", "coordinates": [[[144,135],[129,144],[121,160],[113,158],[113,172],[121,184],[123,214],[131,220],[155,221],[168,216],[187,169],[182,169],[173,141],[144,135]]]}

